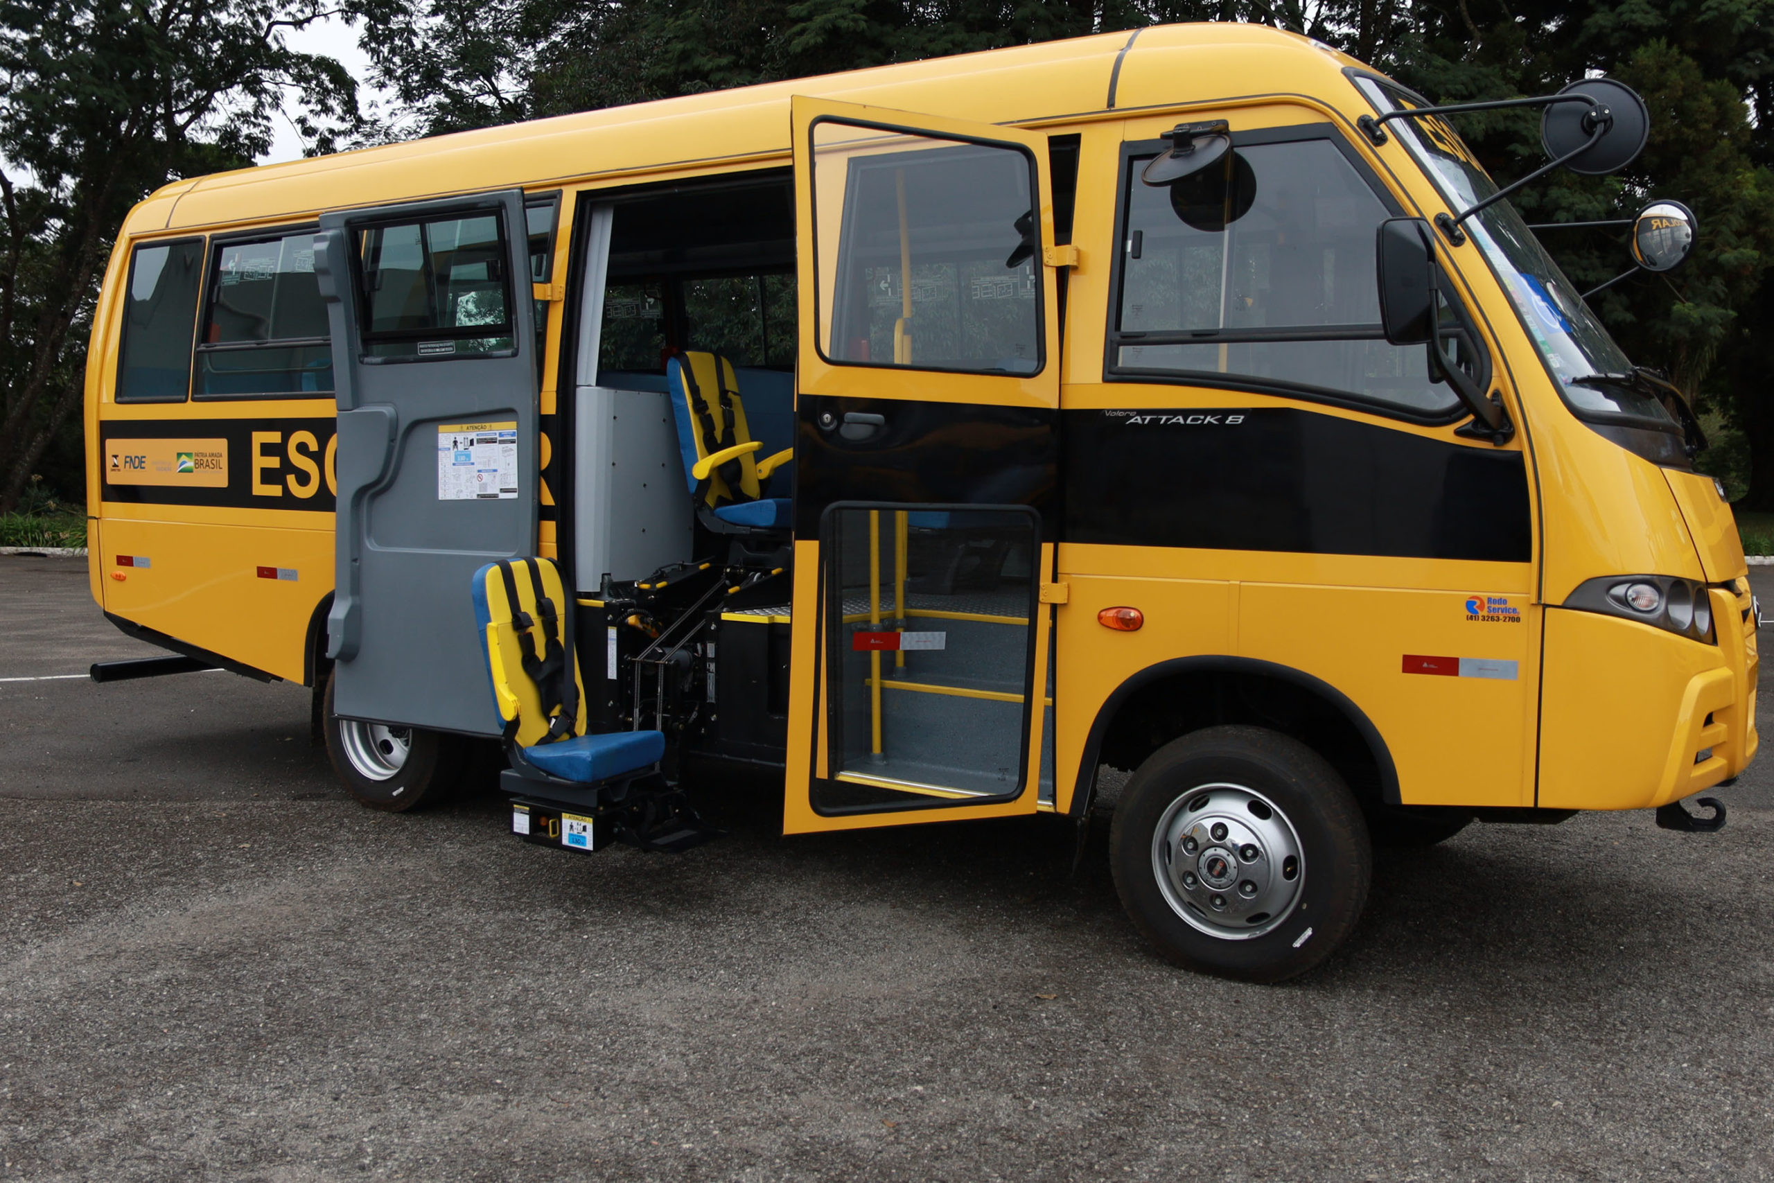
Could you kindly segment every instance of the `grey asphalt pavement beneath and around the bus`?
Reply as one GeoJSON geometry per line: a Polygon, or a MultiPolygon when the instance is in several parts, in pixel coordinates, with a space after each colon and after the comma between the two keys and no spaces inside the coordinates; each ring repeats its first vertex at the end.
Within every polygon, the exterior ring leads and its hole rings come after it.
{"type": "Polygon", "coordinates": [[[1382,855],[1245,986],[1141,944],[1102,828],[1071,876],[1054,819],[784,839],[711,782],[715,844],[546,851],[358,809],[302,686],[59,678],[154,653],[0,559],[0,1179],[1774,1176],[1774,756],[1717,835],[1382,855]]]}

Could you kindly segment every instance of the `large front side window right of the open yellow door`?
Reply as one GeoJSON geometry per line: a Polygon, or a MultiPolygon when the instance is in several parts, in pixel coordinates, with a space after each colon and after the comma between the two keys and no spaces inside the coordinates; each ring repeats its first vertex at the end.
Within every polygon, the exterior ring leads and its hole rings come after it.
{"type": "Polygon", "coordinates": [[[1380,335],[1375,231],[1389,216],[1323,138],[1247,144],[1221,165],[1151,186],[1125,179],[1116,317],[1121,372],[1236,374],[1414,411],[1455,396],[1423,346],[1380,335]]]}

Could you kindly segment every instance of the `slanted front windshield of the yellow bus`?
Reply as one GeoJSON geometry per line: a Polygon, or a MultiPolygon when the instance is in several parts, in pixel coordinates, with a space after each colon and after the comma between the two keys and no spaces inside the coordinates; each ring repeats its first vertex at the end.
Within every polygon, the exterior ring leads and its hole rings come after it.
{"type": "MultiPolygon", "coordinates": [[[[1417,106],[1412,96],[1382,87],[1371,78],[1359,78],[1357,85],[1382,112],[1417,106]]],[[[1385,128],[1417,158],[1455,211],[1471,209],[1497,192],[1497,184],[1485,176],[1444,121],[1394,119],[1385,128]]],[[[1462,225],[1503,280],[1510,302],[1572,410],[1586,417],[1630,415],[1673,422],[1662,399],[1643,387],[1582,381],[1595,374],[1629,374],[1632,362],[1602,328],[1602,321],[1582,302],[1565,271],[1552,262],[1552,255],[1527,229],[1515,206],[1501,200],[1462,225]]]]}

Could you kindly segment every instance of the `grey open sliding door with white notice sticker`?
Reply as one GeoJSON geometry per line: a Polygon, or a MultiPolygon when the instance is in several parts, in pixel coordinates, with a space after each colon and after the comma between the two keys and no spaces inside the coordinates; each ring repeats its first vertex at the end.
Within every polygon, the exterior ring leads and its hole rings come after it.
{"type": "Polygon", "coordinates": [[[491,734],[468,578],[536,548],[523,193],[321,215],[339,392],[334,709],[491,734]]]}

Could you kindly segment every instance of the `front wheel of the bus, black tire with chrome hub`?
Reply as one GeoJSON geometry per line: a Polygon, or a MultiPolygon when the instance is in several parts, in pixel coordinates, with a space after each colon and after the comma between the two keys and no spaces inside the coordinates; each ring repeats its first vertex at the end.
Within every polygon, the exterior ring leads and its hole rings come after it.
{"type": "Polygon", "coordinates": [[[1277,983],[1329,958],[1355,929],[1373,874],[1368,825],[1336,770],[1299,740],[1245,725],[1208,727],[1153,752],[1116,805],[1109,860],[1121,906],[1158,952],[1252,983],[1277,983]],[[1210,871],[1224,874],[1228,858],[1236,885],[1226,880],[1206,894],[1210,871]],[[1245,905],[1240,896],[1258,889],[1254,880],[1261,887],[1245,905]],[[1245,919],[1242,906],[1274,912],[1245,919]]]}

